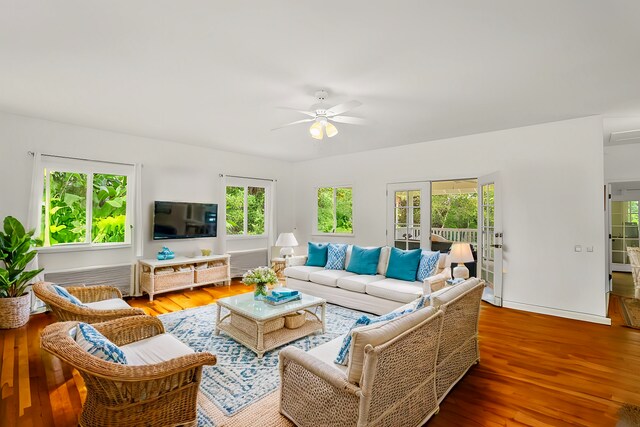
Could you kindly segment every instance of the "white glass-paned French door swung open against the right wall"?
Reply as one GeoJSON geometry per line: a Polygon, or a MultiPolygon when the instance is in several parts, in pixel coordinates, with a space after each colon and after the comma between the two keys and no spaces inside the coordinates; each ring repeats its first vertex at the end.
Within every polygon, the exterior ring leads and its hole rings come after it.
{"type": "Polygon", "coordinates": [[[478,271],[483,300],[502,306],[502,205],[497,173],[478,178],[478,271]]]}

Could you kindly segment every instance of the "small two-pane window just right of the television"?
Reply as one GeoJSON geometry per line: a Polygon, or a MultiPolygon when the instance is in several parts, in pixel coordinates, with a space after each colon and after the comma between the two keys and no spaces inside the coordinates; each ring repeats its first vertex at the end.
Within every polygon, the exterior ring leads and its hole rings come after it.
{"type": "Polygon", "coordinates": [[[266,189],[257,186],[227,186],[227,236],[264,236],[266,189]]]}

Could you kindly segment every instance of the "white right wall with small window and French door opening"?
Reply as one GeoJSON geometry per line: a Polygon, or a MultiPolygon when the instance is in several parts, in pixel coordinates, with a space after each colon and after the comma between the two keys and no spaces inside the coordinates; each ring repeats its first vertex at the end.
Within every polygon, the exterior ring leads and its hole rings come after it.
{"type": "Polygon", "coordinates": [[[387,183],[498,171],[504,305],[607,322],[600,117],[312,160],[295,171],[301,245],[310,239],[383,245],[387,183]],[[314,187],[341,184],[353,186],[355,237],[311,236],[314,187]],[[574,252],[577,244],[594,251],[574,252]]]}

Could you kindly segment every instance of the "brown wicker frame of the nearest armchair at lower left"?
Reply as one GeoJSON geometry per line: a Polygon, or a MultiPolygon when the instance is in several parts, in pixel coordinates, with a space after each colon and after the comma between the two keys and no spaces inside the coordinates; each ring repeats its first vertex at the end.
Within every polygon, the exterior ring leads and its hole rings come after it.
{"type": "MultiPolygon", "coordinates": [[[[204,365],[211,353],[191,353],[152,365],[106,362],[84,351],[69,335],[78,322],[47,326],[41,346],[76,368],[87,398],[79,423],[84,427],[195,426],[196,401],[204,365]]],[[[93,325],[118,346],[164,333],[160,320],[135,316],[93,325]]]]}

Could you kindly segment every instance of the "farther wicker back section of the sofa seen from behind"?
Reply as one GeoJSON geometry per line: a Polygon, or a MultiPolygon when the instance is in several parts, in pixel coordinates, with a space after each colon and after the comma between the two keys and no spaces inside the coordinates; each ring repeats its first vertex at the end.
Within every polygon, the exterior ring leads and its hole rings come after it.
{"type": "Polygon", "coordinates": [[[432,306],[444,313],[436,368],[438,403],[480,361],[478,321],[483,290],[484,281],[474,277],[433,298],[432,306]]]}

